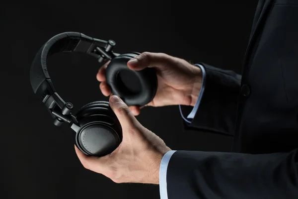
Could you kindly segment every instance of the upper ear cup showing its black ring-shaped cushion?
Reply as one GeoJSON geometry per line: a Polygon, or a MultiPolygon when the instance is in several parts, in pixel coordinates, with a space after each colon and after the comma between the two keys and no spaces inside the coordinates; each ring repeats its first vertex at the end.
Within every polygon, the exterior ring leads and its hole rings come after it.
{"type": "Polygon", "coordinates": [[[141,71],[130,70],[127,62],[138,56],[137,53],[125,53],[111,60],[106,68],[106,83],[112,94],[119,96],[127,105],[143,106],[153,100],[157,90],[157,76],[155,69],[146,68],[141,71]],[[130,92],[123,82],[119,81],[121,71],[130,71],[139,80],[141,91],[130,92]]]}

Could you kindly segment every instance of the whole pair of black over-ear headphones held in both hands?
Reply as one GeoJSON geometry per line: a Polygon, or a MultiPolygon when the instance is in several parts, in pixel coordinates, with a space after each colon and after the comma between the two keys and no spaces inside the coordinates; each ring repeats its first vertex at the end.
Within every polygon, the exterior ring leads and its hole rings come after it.
{"type": "Polygon", "coordinates": [[[127,105],[145,105],[155,96],[157,77],[154,69],[132,71],[138,77],[141,91],[129,92],[119,81],[119,72],[129,70],[127,62],[140,55],[132,52],[117,54],[112,51],[113,40],[100,40],[79,32],[65,32],[48,40],[37,52],[31,69],[30,82],[35,94],[41,97],[54,124],[60,126],[69,123],[75,132],[75,145],[84,154],[105,156],[113,152],[122,141],[121,125],[107,101],[94,101],[81,107],[72,115],[73,104],[65,102],[56,93],[47,70],[48,58],[59,52],[83,52],[89,54],[99,63],[111,60],[106,69],[106,82],[112,93],[119,96],[127,105]]]}

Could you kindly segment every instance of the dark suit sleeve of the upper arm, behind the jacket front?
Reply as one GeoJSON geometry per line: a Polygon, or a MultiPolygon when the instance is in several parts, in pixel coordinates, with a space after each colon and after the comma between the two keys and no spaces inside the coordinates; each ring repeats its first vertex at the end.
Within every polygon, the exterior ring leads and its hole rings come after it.
{"type": "MultiPolygon", "coordinates": [[[[241,75],[204,63],[200,65],[205,69],[204,93],[191,122],[184,119],[184,128],[233,135],[241,75]]],[[[180,107],[182,117],[187,108],[180,107]]]]}

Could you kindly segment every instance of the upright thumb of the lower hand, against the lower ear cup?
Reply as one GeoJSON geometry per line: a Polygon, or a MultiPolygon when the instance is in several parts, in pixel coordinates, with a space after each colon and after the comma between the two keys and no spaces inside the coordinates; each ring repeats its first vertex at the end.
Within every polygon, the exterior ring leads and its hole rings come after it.
{"type": "Polygon", "coordinates": [[[122,128],[138,127],[140,122],[136,119],[129,107],[118,96],[110,97],[110,106],[116,114],[122,128]]]}

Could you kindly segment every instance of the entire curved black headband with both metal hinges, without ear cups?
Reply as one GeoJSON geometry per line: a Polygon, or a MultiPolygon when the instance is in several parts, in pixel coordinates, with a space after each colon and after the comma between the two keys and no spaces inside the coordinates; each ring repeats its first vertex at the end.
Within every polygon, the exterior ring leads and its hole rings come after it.
{"type": "Polygon", "coordinates": [[[111,60],[119,54],[112,51],[116,45],[113,40],[101,40],[79,32],[64,32],[49,39],[37,52],[30,68],[30,82],[33,92],[41,96],[47,106],[54,124],[72,123],[73,104],[65,102],[56,93],[47,69],[48,58],[59,52],[82,52],[98,59],[98,62],[111,60]]]}

